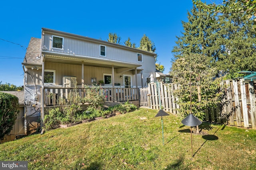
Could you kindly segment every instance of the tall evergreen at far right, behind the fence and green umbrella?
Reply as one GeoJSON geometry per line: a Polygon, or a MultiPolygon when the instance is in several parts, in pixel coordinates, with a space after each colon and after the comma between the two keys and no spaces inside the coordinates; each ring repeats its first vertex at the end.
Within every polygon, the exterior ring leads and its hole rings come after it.
{"type": "Polygon", "coordinates": [[[241,76],[241,70],[256,71],[256,39],[252,20],[243,20],[241,14],[218,16],[215,33],[214,61],[227,78],[241,76]]]}

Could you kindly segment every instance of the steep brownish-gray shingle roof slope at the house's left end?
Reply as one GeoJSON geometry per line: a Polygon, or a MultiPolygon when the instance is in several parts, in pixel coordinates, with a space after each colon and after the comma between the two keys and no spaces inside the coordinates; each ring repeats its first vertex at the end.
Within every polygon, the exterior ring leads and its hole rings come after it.
{"type": "Polygon", "coordinates": [[[26,51],[26,55],[22,64],[39,64],[42,65],[41,59],[36,59],[36,57],[40,57],[40,48],[41,48],[41,39],[31,37],[30,42],[28,44],[28,48],[26,51]]]}

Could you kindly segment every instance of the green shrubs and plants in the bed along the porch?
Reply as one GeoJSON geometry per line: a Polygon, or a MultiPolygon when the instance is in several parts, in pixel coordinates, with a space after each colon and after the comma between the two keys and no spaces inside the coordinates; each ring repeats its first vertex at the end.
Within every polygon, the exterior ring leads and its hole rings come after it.
{"type": "Polygon", "coordinates": [[[104,108],[102,107],[102,102],[104,102],[105,93],[101,86],[85,86],[84,90],[86,93],[85,98],[81,99],[80,96],[76,94],[76,90],[74,90],[74,93],[70,93],[68,99],[60,98],[59,105],[47,111],[48,113],[44,116],[44,127],[46,130],[55,129],[59,127],[60,124],[70,124],[85,119],[105,117],[106,115],[116,112],[124,114],[137,109],[134,104],[128,101],[124,104],[104,108]],[[88,103],[88,107],[85,110],[78,104],[81,101],[88,103]]]}

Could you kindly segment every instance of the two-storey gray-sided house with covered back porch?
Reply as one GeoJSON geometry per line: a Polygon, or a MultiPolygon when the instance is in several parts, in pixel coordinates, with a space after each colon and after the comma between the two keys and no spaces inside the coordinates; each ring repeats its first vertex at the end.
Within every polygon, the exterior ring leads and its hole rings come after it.
{"type": "Polygon", "coordinates": [[[25,114],[44,118],[76,88],[83,97],[85,85],[101,84],[107,102],[139,100],[155,73],[156,54],[99,39],[42,28],[31,38],[24,58],[25,114]],[[104,86],[103,86],[104,85],[104,86]]]}

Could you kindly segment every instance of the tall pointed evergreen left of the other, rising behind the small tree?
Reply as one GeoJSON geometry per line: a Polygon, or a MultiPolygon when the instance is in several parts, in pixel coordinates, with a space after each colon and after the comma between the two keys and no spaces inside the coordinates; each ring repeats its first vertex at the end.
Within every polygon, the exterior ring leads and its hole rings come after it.
{"type": "Polygon", "coordinates": [[[208,57],[214,55],[208,48],[214,43],[214,22],[213,15],[193,7],[191,13],[188,12],[188,22],[182,21],[184,32],[177,37],[177,45],[172,50],[174,57],[178,59],[190,53],[205,54],[208,57]]]}

